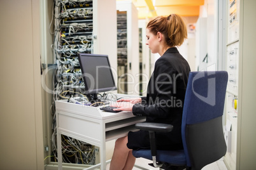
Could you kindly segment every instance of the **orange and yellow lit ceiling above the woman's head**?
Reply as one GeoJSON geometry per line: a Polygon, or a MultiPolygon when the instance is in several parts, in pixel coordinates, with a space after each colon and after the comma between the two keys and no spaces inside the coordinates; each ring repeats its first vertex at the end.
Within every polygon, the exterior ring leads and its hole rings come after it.
{"type": "MultiPolygon", "coordinates": [[[[122,0],[117,0],[122,1],[122,0]]],[[[176,13],[181,16],[199,16],[204,0],[132,0],[138,9],[138,18],[168,16],[176,13]]]]}

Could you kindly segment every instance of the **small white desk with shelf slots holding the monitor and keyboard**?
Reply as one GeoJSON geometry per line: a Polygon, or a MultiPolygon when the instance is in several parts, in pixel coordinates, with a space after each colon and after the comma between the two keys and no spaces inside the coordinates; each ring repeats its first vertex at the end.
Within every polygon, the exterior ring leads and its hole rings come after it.
{"type": "Polygon", "coordinates": [[[66,100],[55,101],[57,121],[58,167],[62,170],[61,134],[99,147],[101,164],[87,169],[106,169],[106,141],[126,136],[135,131],[134,124],[145,121],[132,112],[103,112],[98,107],[88,107],[66,100]]]}

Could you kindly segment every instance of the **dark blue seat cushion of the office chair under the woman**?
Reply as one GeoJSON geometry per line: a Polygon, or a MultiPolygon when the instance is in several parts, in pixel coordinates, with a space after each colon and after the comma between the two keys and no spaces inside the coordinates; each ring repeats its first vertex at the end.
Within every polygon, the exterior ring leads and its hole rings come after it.
{"type": "MultiPolygon", "coordinates": [[[[134,157],[143,157],[152,160],[151,150],[132,150],[134,157]]],[[[184,150],[157,150],[157,162],[167,162],[168,164],[186,165],[184,150]]]]}

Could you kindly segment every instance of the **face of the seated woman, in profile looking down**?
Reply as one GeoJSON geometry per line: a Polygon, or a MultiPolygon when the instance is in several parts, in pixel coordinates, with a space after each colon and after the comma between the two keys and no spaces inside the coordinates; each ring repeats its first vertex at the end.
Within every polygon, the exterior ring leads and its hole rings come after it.
{"type": "Polygon", "coordinates": [[[159,53],[159,41],[158,36],[146,29],[146,45],[150,48],[152,53],[159,53]]]}

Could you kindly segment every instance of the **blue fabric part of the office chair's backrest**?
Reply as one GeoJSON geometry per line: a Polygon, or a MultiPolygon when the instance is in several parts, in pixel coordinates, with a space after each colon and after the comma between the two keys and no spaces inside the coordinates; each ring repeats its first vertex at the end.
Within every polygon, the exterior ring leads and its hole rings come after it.
{"type": "Polygon", "coordinates": [[[189,74],[181,125],[187,166],[191,166],[191,158],[188,159],[186,128],[188,125],[200,124],[223,115],[227,77],[225,71],[190,72],[189,74]]]}

